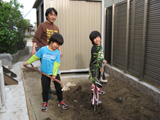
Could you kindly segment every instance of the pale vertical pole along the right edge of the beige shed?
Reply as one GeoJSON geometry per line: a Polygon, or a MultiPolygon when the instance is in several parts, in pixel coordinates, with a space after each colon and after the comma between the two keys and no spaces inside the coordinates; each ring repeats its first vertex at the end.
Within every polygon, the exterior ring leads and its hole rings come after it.
{"type": "Polygon", "coordinates": [[[105,34],[104,34],[104,32],[105,32],[105,24],[104,24],[104,20],[105,20],[105,0],[102,0],[102,2],[101,2],[101,8],[102,8],[102,10],[101,10],[101,44],[102,44],[102,48],[103,48],[103,50],[105,49],[105,46],[104,46],[104,41],[105,41],[105,34]]]}

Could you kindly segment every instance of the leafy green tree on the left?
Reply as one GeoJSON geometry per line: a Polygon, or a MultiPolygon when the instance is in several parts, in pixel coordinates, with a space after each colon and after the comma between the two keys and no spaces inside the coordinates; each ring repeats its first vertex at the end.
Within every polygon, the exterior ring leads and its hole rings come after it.
{"type": "Polygon", "coordinates": [[[25,47],[24,32],[29,20],[23,19],[17,0],[0,4],[0,53],[16,53],[25,47]]]}

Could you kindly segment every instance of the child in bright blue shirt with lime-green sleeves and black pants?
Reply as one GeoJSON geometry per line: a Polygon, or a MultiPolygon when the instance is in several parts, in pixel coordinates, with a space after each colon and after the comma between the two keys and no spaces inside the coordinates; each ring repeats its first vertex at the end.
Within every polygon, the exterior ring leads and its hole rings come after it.
{"type": "Polygon", "coordinates": [[[60,51],[58,47],[63,44],[63,37],[58,34],[54,33],[48,42],[47,46],[44,46],[36,52],[27,62],[23,63],[23,66],[27,66],[32,62],[41,59],[41,71],[50,75],[51,79],[45,75],[41,77],[41,84],[42,84],[42,97],[43,97],[43,106],[42,111],[47,110],[48,106],[48,91],[50,89],[50,81],[53,80],[57,98],[58,98],[58,106],[62,107],[63,109],[68,109],[68,105],[66,105],[63,101],[62,96],[62,87],[59,83],[55,82],[54,79],[60,80],[59,75],[59,66],[60,66],[60,51]]]}

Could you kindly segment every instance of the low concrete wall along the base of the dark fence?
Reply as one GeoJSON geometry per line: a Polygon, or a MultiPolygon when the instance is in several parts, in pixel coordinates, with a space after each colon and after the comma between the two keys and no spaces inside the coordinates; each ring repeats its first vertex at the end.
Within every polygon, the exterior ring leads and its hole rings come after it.
{"type": "Polygon", "coordinates": [[[130,74],[125,74],[123,71],[112,67],[110,65],[105,66],[105,71],[112,77],[118,78],[129,85],[132,85],[137,90],[141,91],[143,94],[151,97],[156,103],[160,104],[160,89],[147,84],[143,81],[139,81],[138,78],[131,76],[130,74]]]}

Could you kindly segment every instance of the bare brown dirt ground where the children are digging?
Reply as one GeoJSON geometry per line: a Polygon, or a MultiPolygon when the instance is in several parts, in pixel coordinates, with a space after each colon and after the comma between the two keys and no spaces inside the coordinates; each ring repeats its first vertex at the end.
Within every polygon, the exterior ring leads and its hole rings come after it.
{"type": "MultiPolygon", "coordinates": [[[[107,77],[108,83],[103,84],[106,93],[100,95],[102,104],[96,106],[94,111],[91,104],[91,80],[87,77],[63,78],[62,75],[62,82],[76,84],[63,92],[64,101],[70,108],[59,108],[57,96],[52,95],[54,99],[49,100],[47,111],[42,112],[41,75],[27,68],[23,68],[23,75],[37,120],[160,120],[160,105],[113,77],[107,77]]],[[[53,83],[51,88],[54,89],[53,83]]]]}

